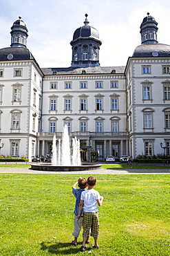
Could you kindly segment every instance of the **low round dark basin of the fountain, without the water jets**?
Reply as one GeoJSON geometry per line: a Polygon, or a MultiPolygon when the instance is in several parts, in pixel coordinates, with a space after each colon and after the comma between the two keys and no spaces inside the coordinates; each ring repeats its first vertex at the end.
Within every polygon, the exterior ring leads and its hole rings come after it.
{"type": "Polygon", "coordinates": [[[47,171],[47,172],[78,172],[87,170],[100,169],[101,165],[95,163],[85,163],[82,165],[52,165],[51,163],[36,163],[31,165],[32,170],[47,171]]]}

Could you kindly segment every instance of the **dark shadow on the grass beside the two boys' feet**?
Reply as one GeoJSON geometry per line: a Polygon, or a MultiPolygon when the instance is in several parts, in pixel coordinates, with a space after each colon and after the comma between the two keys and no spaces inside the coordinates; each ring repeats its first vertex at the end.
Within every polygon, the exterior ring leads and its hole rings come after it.
{"type": "Polygon", "coordinates": [[[70,255],[71,253],[78,253],[80,252],[81,243],[80,246],[77,247],[72,246],[70,248],[70,243],[56,243],[51,244],[50,242],[42,242],[41,243],[41,250],[47,250],[49,253],[53,253],[55,255],[70,255]]]}

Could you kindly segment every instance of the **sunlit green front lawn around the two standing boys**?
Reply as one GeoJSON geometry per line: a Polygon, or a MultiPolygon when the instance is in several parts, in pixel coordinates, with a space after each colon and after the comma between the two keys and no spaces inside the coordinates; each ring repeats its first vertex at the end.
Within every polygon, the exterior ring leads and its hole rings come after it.
{"type": "MultiPolygon", "coordinates": [[[[88,176],[85,174],[85,176],[88,176]]],[[[87,255],[70,246],[78,174],[0,174],[0,255],[87,255]]],[[[170,255],[169,174],[96,175],[99,249],[91,255],[170,255]]]]}

